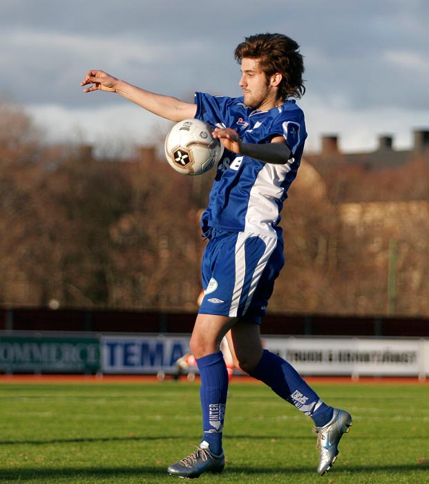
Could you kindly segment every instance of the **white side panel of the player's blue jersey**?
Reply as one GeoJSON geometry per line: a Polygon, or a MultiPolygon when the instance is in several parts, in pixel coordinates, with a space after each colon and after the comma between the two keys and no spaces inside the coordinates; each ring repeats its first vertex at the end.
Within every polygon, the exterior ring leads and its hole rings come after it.
{"type": "Polygon", "coordinates": [[[294,158],[287,160],[285,165],[265,163],[250,189],[249,203],[245,219],[245,232],[267,234],[277,237],[273,223],[278,219],[278,203],[285,189],[281,186],[289,171],[294,158]]]}

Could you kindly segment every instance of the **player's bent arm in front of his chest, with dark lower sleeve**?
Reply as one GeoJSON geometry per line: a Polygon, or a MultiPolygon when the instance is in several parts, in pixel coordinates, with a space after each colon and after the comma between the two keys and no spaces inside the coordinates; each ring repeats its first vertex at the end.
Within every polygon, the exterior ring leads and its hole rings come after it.
{"type": "Polygon", "coordinates": [[[284,165],[291,155],[283,136],[276,136],[271,140],[271,143],[261,145],[258,143],[243,143],[235,130],[216,128],[213,130],[213,138],[218,138],[222,145],[233,153],[274,165],[284,165]]]}

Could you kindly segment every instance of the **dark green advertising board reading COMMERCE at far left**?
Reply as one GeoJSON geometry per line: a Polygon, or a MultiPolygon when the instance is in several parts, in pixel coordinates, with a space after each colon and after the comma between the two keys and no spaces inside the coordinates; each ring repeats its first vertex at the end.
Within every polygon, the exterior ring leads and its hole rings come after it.
{"type": "Polygon", "coordinates": [[[1,335],[3,373],[97,373],[100,366],[96,337],[1,335]]]}

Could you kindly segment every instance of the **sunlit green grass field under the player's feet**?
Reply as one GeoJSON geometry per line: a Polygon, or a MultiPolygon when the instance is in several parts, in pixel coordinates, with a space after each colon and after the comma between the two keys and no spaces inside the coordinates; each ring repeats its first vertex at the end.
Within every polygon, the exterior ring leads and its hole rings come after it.
{"type": "MultiPolygon", "coordinates": [[[[326,476],[316,474],[312,422],[262,384],[231,383],[225,471],[195,483],[429,482],[428,384],[314,388],[354,425],[326,476]]],[[[166,467],[198,444],[198,382],[0,387],[0,483],[181,483],[166,467]]]]}

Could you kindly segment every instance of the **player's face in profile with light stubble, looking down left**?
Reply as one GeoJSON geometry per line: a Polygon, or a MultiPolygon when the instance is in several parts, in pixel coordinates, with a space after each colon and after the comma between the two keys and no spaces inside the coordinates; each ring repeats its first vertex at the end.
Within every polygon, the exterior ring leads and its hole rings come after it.
{"type": "Polygon", "coordinates": [[[271,85],[267,75],[260,70],[258,59],[247,59],[241,62],[241,79],[238,83],[246,106],[260,111],[278,106],[277,89],[271,85]]]}

